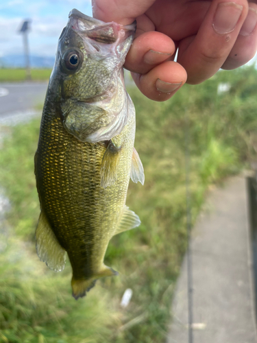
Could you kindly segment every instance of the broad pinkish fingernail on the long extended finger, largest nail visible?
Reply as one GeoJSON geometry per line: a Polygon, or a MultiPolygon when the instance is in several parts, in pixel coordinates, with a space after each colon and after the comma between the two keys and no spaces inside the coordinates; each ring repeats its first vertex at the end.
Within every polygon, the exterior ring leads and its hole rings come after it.
{"type": "Polygon", "coordinates": [[[236,27],[243,6],[234,2],[222,2],[217,6],[212,26],[218,34],[229,34],[236,27]]]}

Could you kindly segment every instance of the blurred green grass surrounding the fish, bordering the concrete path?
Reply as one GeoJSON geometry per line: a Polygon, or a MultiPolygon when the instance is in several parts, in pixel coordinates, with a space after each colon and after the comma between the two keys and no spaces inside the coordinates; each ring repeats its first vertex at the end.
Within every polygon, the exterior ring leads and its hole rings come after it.
{"type": "Polygon", "coordinates": [[[34,248],[39,119],[11,130],[0,150],[1,185],[12,202],[0,246],[0,342],[165,342],[186,250],[186,142],[195,222],[210,185],[256,159],[256,80],[253,68],[223,71],[199,86],[184,86],[161,104],[130,90],[146,181],[143,187],[130,183],[127,205],[142,224],[110,241],[106,264],[121,275],[98,282],[77,302],[71,297],[69,263],[64,272],[51,272],[34,248]],[[230,82],[230,91],[217,95],[222,82],[230,82]],[[127,288],[132,300],[121,309],[127,288]]]}

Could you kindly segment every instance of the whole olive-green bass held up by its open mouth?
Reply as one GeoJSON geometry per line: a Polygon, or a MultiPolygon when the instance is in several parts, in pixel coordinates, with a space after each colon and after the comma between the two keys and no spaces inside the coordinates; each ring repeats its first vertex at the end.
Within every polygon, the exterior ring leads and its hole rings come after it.
{"type": "Polygon", "coordinates": [[[104,263],[110,239],[140,225],[125,204],[130,178],[144,184],[134,148],[135,109],[123,64],[136,23],[104,23],[73,9],[42,110],[35,175],[36,251],[51,270],[69,257],[75,299],[118,273],[104,263]]]}

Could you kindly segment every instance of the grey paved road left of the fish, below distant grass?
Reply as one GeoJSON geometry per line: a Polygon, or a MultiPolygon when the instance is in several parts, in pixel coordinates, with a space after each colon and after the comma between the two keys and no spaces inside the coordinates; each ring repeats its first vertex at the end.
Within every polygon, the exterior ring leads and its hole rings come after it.
{"type": "Polygon", "coordinates": [[[44,102],[47,82],[0,83],[0,118],[44,102]]]}

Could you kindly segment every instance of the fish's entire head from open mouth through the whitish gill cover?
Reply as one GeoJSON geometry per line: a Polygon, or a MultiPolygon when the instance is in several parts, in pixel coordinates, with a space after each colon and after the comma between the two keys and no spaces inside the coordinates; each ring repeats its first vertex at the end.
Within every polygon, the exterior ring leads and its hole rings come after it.
{"type": "Polygon", "coordinates": [[[81,141],[111,139],[126,123],[126,114],[119,110],[125,98],[122,67],[135,30],[136,22],[123,26],[77,10],[69,14],[49,91],[58,92],[64,127],[81,141]]]}

